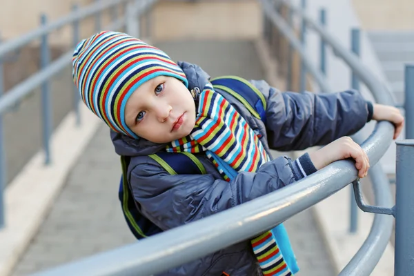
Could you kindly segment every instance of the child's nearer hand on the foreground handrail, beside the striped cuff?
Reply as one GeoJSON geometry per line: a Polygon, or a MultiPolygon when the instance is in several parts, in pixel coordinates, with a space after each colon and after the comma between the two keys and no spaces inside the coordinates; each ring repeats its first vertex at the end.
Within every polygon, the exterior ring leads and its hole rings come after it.
{"type": "Polygon", "coordinates": [[[350,137],[341,137],[315,152],[309,153],[313,166],[317,170],[328,166],[334,161],[352,158],[355,160],[355,168],[358,177],[366,177],[369,168],[368,155],[350,137]]]}

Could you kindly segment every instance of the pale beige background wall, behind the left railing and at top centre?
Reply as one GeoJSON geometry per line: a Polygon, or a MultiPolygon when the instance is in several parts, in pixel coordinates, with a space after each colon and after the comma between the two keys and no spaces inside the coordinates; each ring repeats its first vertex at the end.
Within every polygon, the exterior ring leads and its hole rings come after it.
{"type": "MultiPolygon", "coordinates": [[[[94,0],[77,0],[86,6],[94,0]]],[[[55,21],[71,11],[68,0],[8,0],[0,9],[0,33],[4,39],[18,37],[39,26],[44,12],[55,21]],[[22,8],[24,7],[24,8],[22,8]]],[[[120,10],[120,13],[122,11],[120,10]]],[[[261,34],[262,19],[258,1],[159,1],[150,14],[152,39],[157,41],[193,39],[252,39],[261,34]]],[[[109,12],[103,16],[108,22],[109,12]]],[[[81,38],[95,32],[93,18],[81,22],[81,38]]],[[[143,21],[144,26],[144,21],[143,21]]],[[[105,26],[105,23],[103,23],[105,26]]],[[[50,37],[53,43],[70,45],[72,28],[62,28],[50,37]]]]}

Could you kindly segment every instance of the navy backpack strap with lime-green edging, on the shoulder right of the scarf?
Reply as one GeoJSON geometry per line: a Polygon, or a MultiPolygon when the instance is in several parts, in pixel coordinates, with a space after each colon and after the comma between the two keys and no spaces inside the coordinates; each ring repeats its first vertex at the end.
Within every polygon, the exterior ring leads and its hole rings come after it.
{"type": "Polygon", "coordinates": [[[241,101],[250,113],[266,124],[266,99],[252,83],[236,76],[210,79],[213,88],[221,89],[241,101]]]}

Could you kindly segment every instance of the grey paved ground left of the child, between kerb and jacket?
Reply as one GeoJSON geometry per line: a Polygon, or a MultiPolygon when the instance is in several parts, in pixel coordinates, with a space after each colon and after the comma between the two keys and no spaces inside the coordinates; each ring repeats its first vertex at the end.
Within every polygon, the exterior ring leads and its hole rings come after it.
{"type": "Polygon", "coordinates": [[[117,199],[119,171],[107,127],[102,126],[70,173],[14,275],[134,242],[117,199]]]}

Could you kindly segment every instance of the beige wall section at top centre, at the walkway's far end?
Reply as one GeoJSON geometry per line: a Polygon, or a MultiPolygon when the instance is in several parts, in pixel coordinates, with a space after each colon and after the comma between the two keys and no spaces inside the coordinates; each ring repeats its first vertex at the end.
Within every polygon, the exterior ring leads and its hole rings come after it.
{"type": "Polygon", "coordinates": [[[262,30],[258,1],[161,1],[152,14],[153,39],[255,39],[262,30]]]}

